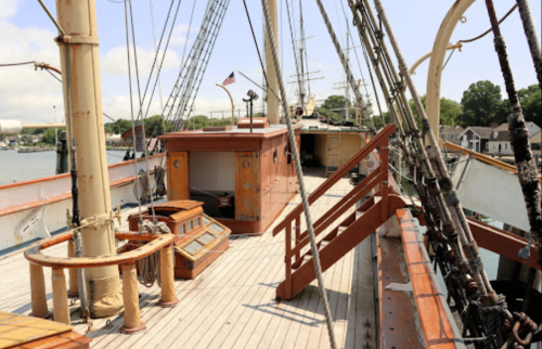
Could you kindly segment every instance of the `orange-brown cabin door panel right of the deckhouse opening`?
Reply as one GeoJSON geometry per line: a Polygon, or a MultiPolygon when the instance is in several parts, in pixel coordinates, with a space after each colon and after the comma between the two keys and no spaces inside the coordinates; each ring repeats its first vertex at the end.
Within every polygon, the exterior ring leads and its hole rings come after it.
{"type": "Polygon", "coordinates": [[[260,220],[259,153],[235,152],[235,219],[260,220]]]}

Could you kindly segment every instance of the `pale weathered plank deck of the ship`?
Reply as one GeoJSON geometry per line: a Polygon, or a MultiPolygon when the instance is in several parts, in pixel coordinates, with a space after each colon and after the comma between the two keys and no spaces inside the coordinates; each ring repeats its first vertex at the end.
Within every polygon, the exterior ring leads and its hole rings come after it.
{"type": "MultiPolygon", "coordinates": [[[[324,169],[305,173],[308,192],[323,181],[324,169]]],[[[320,218],[352,189],[340,179],[311,206],[320,218]]],[[[315,281],[289,301],[275,301],[284,280],[284,234],[273,227],[300,202],[296,195],[281,217],[261,236],[231,236],[230,248],[195,280],[176,280],[180,303],[155,307],[160,288],[139,285],[140,309],[146,331],[119,333],[122,313],[81,323],[78,301],[70,305],[75,329],[92,338],[91,348],[328,348],[330,341],[315,281]],[[89,332],[90,327],[90,332],[89,332]]],[[[130,211],[124,212],[124,221],[130,211]]],[[[345,212],[349,214],[349,212],[345,212]]],[[[120,230],[128,230],[124,225],[120,230]]],[[[65,256],[66,243],[47,249],[65,256]]],[[[0,311],[30,312],[28,261],[23,249],[0,259],[0,311]]],[[[52,309],[51,269],[46,268],[49,308],[52,309]]],[[[67,274],[67,272],[66,272],[67,274]]],[[[365,240],[324,273],[339,348],[375,347],[375,296],[371,241],[365,240]],[[369,323],[369,326],[367,326],[369,323]]]]}

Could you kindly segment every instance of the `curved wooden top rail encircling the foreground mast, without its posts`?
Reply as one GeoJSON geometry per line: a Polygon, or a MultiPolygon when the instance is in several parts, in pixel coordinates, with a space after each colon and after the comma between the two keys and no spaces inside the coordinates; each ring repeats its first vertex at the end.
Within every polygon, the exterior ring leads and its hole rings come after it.
{"type": "MultiPolygon", "coordinates": [[[[115,234],[117,235],[117,234],[115,234]]],[[[170,244],[175,235],[173,234],[162,234],[162,235],[146,235],[141,236],[139,234],[121,233],[122,238],[133,238],[133,240],[144,240],[150,241],[137,249],[114,256],[100,256],[100,257],[53,257],[43,255],[41,249],[54,246],[62,242],[73,238],[72,231],[62,233],[60,235],[44,238],[36,244],[31,245],[25,250],[25,258],[34,264],[50,268],[94,268],[94,267],[108,267],[118,266],[126,263],[133,263],[136,260],[144,258],[152,255],[153,253],[159,250],[166,245],[170,244]]]]}

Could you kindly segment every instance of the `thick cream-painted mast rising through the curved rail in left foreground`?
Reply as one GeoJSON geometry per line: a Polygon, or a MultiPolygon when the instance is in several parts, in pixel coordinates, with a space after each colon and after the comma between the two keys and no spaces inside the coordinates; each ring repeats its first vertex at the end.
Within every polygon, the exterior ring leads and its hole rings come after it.
{"type": "MultiPolygon", "coordinates": [[[[56,41],[64,73],[64,103],[69,106],[65,109],[72,111],[73,134],[68,134],[68,139],[76,140],[80,216],[83,221],[98,219],[98,224],[81,230],[82,256],[114,255],[95,0],[56,0],[56,14],[65,33],[56,41]]],[[[108,316],[122,310],[116,267],[87,269],[85,279],[91,316],[108,316]]]]}

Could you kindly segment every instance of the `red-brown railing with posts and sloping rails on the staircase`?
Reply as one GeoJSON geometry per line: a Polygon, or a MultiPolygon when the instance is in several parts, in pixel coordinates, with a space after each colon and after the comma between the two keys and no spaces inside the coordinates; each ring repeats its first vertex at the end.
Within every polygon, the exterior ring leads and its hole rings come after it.
{"type": "MultiPolygon", "coordinates": [[[[360,199],[367,195],[372,190],[379,185],[379,194],[383,201],[383,216],[387,216],[387,195],[388,195],[388,159],[389,159],[389,137],[396,130],[395,125],[388,125],[375,138],[373,138],[365,146],[358,151],[347,163],[340,166],[322,185],[320,185],[311,195],[309,195],[309,205],[312,205],[317,199],[324,195],[335,183],[344,178],[354,166],[358,166],[376,148],[379,148],[379,166],[356,185],[350,193],[344,196],[335,204],[326,215],[323,215],[313,223],[314,234],[318,236],[332,225],[344,212],[356,205],[360,199]]],[[[286,285],[292,283],[292,258],[299,260],[301,250],[309,244],[307,231],[301,233],[301,215],[304,214],[302,205],[299,204],[294,208],[286,218],[280,222],[273,230],[273,236],[276,236],[283,230],[286,231],[285,236],[285,262],[286,262],[286,285]],[[294,223],[295,222],[295,223],[294,223]],[[294,246],[292,246],[292,225],[295,229],[294,246]]],[[[335,228],[338,230],[338,227],[335,228]]],[[[291,287],[286,287],[289,289],[291,287]]]]}

